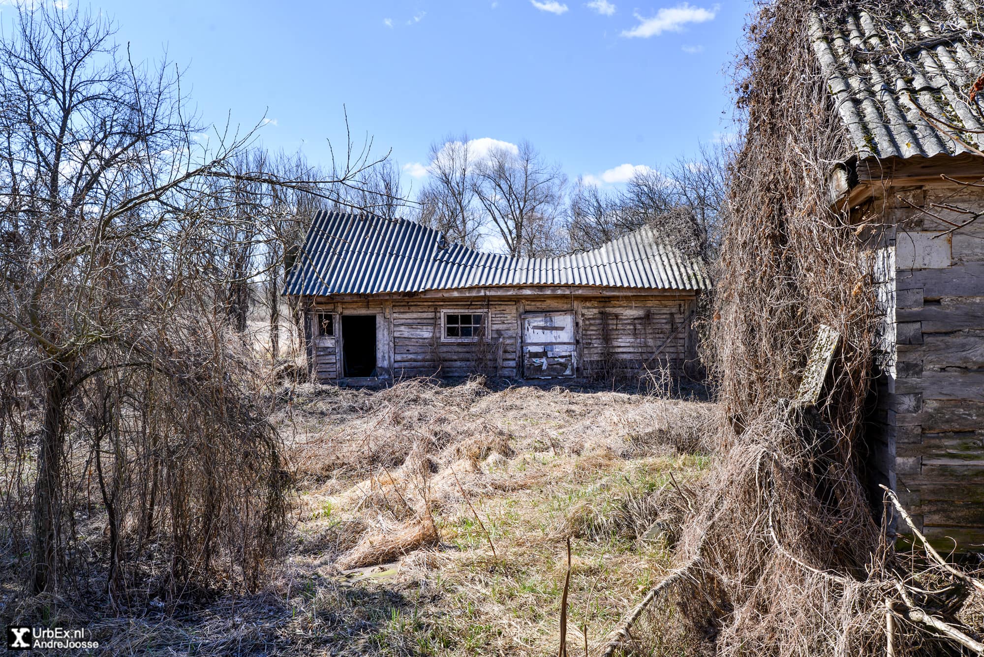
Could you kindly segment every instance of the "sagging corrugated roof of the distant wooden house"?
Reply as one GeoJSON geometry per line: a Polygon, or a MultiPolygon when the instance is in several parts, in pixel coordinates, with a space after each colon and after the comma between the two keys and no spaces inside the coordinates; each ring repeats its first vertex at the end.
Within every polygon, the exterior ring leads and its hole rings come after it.
{"type": "Polygon", "coordinates": [[[697,263],[660,243],[650,228],[593,251],[512,258],[458,244],[406,219],[319,212],[287,276],[287,294],[381,294],[504,285],[707,289],[697,263]]]}

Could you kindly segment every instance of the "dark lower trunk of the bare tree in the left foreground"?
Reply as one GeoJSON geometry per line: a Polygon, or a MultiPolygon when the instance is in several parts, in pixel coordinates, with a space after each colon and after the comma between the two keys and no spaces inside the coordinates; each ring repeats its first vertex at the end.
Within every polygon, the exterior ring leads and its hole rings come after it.
{"type": "Polygon", "coordinates": [[[44,419],[37,448],[34,486],[34,550],[31,579],[34,593],[57,592],[61,546],[61,469],[65,400],[71,376],[69,363],[52,360],[44,373],[44,419]]]}

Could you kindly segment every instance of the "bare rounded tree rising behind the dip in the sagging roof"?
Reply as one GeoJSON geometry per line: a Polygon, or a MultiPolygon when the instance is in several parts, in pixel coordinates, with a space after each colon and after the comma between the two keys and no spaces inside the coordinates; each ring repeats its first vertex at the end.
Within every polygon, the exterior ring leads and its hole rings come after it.
{"type": "Polygon", "coordinates": [[[491,149],[475,166],[472,188],[512,256],[544,256],[561,244],[559,217],[567,180],[529,142],[491,149]]]}

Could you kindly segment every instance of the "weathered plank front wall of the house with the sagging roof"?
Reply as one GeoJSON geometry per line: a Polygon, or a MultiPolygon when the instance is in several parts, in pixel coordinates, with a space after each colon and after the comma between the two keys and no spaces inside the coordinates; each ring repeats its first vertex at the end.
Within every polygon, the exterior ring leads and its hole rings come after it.
{"type": "Polygon", "coordinates": [[[315,298],[309,309],[312,371],[322,383],[344,379],[341,322],[345,315],[377,316],[380,378],[465,377],[471,374],[522,379],[522,318],[527,313],[574,314],[576,379],[638,377],[646,366],[668,364],[679,373],[696,360],[693,312],[696,294],[509,294],[456,293],[446,297],[384,299],[315,298]],[[482,314],[481,339],[456,341],[444,335],[443,313],[482,314]],[[334,318],[334,334],[319,335],[319,314],[334,318]],[[386,352],[385,354],[383,352],[386,352]]]}

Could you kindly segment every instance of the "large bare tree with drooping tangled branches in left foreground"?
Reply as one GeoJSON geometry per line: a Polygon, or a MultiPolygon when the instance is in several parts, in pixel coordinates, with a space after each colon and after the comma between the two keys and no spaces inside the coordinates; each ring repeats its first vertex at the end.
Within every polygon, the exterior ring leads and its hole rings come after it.
{"type": "MultiPolygon", "coordinates": [[[[252,275],[253,252],[236,250],[270,233],[244,223],[255,186],[331,198],[368,158],[328,181],[234,165],[250,135],[205,148],[177,73],[132,61],[113,31],[38,5],[0,39],[0,479],[33,480],[22,538],[35,592],[64,593],[92,563],[75,527],[91,495],[107,514],[112,600],[151,545],[167,555],[165,594],[222,564],[256,585],[287,480],[260,369],[229,339],[229,290],[252,275]],[[216,254],[233,254],[231,269],[216,254]]],[[[21,504],[0,502],[5,525],[21,504]]]]}

